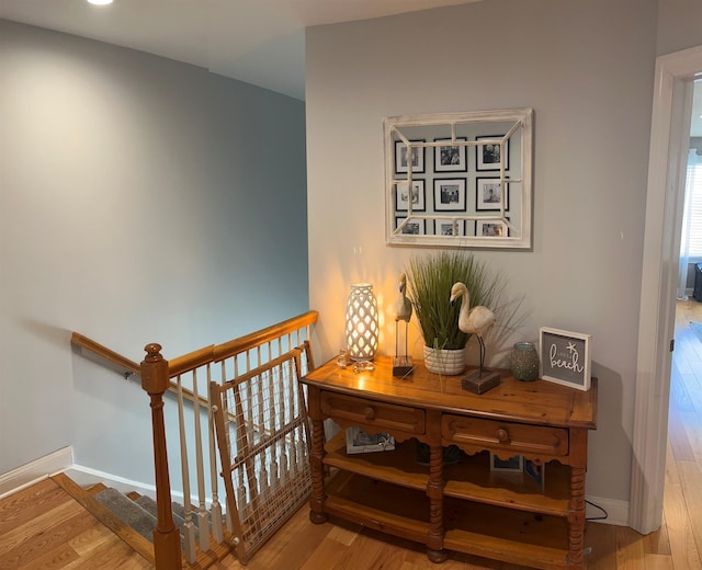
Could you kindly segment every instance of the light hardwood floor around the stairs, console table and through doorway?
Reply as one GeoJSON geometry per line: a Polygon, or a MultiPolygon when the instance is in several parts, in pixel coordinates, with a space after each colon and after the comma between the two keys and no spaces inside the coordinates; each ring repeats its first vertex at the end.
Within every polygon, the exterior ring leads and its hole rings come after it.
{"type": "MultiPolygon", "coordinates": [[[[589,570],[702,569],[702,303],[679,301],[670,389],[664,523],[642,536],[627,527],[589,523],[589,570]]],[[[0,501],[0,570],[139,569],[149,563],[98,523],[53,480],[0,501]]],[[[234,557],[216,570],[522,570],[451,554],[431,563],[407,540],[336,521],[313,525],[307,508],[259,550],[249,565],[234,557]]]]}

